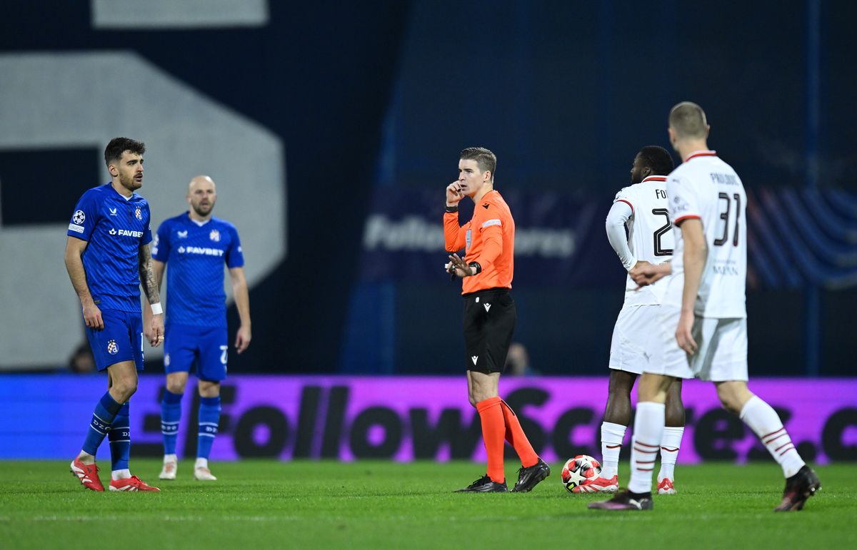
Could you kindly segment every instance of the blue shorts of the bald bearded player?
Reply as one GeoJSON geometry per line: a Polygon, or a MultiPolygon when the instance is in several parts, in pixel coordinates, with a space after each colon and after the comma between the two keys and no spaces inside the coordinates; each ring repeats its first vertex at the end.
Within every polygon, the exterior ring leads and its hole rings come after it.
{"type": "Polygon", "coordinates": [[[164,369],[167,374],[187,373],[196,361],[196,377],[209,382],[226,379],[225,326],[171,325],[164,335],[164,369]]]}

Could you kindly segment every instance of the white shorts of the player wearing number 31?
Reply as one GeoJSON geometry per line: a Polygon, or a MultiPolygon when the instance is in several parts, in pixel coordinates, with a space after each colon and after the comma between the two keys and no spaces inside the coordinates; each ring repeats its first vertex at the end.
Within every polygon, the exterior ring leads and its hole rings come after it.
{"type": "Polygon", "coordinates": [[[746,318],[697,317],[691,333],[698,348],[689,356],[675,340],[680,315],[680,308],[659,308],[656,328],[646,344],[645,372],[712,382],[747,380],[746,318]]]}

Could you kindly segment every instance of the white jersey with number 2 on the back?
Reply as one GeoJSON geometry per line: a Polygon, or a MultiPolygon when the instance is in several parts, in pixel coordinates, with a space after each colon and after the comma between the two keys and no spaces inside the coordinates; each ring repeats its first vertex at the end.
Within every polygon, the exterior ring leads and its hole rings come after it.
{"type": "MultiPolygon", "coordinates": [[[[631,206],[632,216],[628,218],[628,248],[637,260],[650,264],[662,264],[673,256],[675,240],[672,224],[669,221],[667,176],[649,176],[642,182],[622,189],[616,194],[614,202],[626,202],[631,206]]],[[[655,284],[644,286],[640,290],[628,275],[625,286],[625,305],[641,306],[661,303],[668,281],[662,278],[655,284]]]]}

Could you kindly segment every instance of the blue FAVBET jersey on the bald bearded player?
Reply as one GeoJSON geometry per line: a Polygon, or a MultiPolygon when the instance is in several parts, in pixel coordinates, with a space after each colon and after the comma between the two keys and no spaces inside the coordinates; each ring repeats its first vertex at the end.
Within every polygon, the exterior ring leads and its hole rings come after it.
{"type": "Polygon", "coordinates": [[[235,225],[214,217],[199,225],[184,212],[160,224],[152,257],[167,264],[168,325],[226,326],[223,266],[244,265],[235,225]]]}

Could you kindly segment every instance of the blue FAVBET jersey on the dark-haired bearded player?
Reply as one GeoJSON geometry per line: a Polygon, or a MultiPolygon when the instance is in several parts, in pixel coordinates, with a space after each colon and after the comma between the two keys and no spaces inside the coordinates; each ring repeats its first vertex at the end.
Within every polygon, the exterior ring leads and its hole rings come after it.
{"type": "Polygon", "coordinates": [[[100,309],[140,313],[140,246],[152,242],[149,203],[139,194],[130,199],[110,183],[89,189],[71,216],[69,236],[87,241],[83,268],[100,309]]]}

